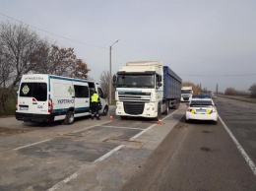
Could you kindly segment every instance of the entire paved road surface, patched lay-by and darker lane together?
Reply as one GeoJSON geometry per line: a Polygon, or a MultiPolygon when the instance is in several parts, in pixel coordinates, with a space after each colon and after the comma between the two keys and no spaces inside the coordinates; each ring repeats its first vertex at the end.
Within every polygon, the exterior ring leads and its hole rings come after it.
{"type": "Polygon", "coordinates": [[[115,116],[71,126],[0,119],[13,130],[0,134],[0,190],[256,190],[246,161],[256,163],[255,104],[215,101],[218,125],[185,123],[185,104],[161,125],[115,116]]]}

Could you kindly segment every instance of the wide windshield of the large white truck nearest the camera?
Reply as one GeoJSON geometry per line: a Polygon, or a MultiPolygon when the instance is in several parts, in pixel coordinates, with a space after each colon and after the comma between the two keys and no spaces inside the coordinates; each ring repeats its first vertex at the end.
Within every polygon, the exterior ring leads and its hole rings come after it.
{"type": "Polygon", "coordinates": [[[117,77],[117,88],[121,87],[135,87],[135,88],[149,88],[155,87],[155,80],[153,74],[119,74],[117,77]]]}

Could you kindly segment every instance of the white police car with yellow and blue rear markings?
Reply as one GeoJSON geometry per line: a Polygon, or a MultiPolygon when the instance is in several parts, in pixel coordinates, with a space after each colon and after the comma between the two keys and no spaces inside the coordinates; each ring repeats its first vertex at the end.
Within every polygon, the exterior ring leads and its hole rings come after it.
{"type": "Polygon", "coordinates": [[[192,98],[186,109],[186,122],[206,120],[218,123],[218,111],[212,98],[192,98]]]}

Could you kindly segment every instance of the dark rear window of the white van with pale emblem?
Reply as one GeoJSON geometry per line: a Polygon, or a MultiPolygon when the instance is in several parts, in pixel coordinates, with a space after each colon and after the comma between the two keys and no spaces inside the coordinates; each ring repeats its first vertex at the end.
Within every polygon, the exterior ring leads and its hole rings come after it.
{"type": "Polygon", "coordinates": [[[34,97],[36,100],[47,100],[46,83],[22,83],[20,96],[34,97]]]}

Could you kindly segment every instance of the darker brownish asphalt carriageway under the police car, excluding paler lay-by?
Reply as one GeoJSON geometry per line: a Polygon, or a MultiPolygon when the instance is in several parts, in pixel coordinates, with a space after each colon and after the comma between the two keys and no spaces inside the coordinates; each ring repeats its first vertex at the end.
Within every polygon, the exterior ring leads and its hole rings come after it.
{"type": "Polygon", "coordinates": [[[250,166],[256,163],[255,104],[215,102],[224,123],[187,124],[183,118],[122,190],[256,190],[256,169],[250,166]]]}

